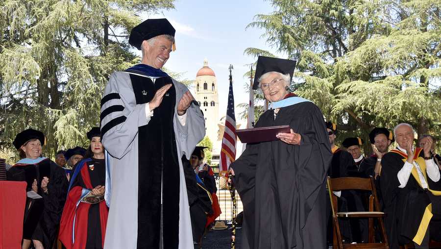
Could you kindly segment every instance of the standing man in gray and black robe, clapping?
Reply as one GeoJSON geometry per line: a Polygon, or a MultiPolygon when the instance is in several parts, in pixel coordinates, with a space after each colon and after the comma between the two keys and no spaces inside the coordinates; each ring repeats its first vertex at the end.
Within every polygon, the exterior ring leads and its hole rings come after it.
{"type": "Polygon", "coordinates": [[[113,73],[101,100],[110,154],[106,249],[193,248],[182,160],[204,137],[205,123],[187,87],[161,70],[174,33],[167,19],[134,27],[129,43],[142,51],[141,64],[113,73]]]}

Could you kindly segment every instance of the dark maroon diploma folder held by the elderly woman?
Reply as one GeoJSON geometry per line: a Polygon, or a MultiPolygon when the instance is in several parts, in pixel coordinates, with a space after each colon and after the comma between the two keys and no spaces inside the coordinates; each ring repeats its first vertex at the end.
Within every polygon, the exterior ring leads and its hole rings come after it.
{"type": "Polygon", "coordinates": [[[278,133],[291,133],[289,125],[259,127],[236,130],[236,134],[242,143],[260,143],[279,140],[278,133]]]}

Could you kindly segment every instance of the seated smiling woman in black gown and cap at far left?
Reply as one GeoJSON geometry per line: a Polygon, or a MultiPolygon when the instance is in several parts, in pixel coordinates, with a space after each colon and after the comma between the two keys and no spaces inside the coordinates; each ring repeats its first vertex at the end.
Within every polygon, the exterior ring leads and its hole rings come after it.
{"type": "Polygon", "coordinates": [[[28,193],[26,199],[22,248],[33,243],[36,249],[50,249],[66,200],[68,180],[61,167],[41,156],[43,132],[26,129],[17,134],[13,144],[22,159],[8,171],[8,180],[26,181],[26,190],[35,192],[28,193]]]}

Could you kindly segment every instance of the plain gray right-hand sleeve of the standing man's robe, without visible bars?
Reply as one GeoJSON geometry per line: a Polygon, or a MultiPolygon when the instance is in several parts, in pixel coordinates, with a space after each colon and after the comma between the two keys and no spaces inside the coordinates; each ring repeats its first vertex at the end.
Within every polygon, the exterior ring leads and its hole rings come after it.
{"type": "Polygon", "coordinates": [[[181,100],[182,96],[188,91],[188,88],[178,81],[173,80],[173,83],[176,88],[176,110],[173,123],[176,141],[178,143],[178,151],[180,153],[179,156],[182,157],[185,154],[187,159],[190,159],[196,144],[205,136],[205,119],[199,106],[192,102],[187,109],[185,125],[181,125],[177,118],[177,106],[179,100],[181,100]]]}

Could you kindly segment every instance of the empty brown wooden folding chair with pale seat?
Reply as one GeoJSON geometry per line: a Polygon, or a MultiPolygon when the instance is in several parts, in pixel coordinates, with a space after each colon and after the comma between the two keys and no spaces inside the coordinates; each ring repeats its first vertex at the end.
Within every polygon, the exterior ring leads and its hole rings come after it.
{"type": "Polygon", "coordinates": [[[388,238],[383,224],[385,214],[380,212],[380,204],[377,199],[377,192],[372,176],[370,178],[359,177],[341,177],[327,179],[329,197],[331,199],[332,224],[334,228],[333,248],[358,248],[358,249],[389,249],[388,238]],[[341,190],[368,190],[372,194],[369,196],[368,212],[339,212],[337,205],[337,196],[333,191],[341,190]],[[342,235],[340,233],[339,218],[368,218],[368,243],[361,244],[343,244],[342,235]],[[381,241],[375,243],[374,219],[378,220],[381,241]]]}

